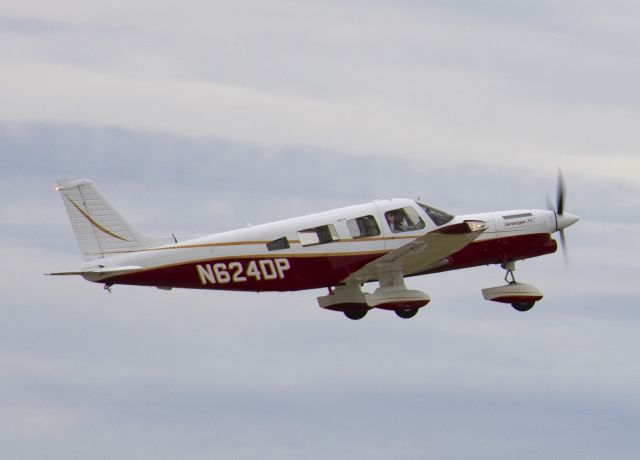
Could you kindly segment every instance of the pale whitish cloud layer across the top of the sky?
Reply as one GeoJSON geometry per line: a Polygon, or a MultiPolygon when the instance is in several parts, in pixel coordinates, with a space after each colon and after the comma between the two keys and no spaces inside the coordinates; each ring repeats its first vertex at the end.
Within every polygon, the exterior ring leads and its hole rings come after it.
{"type": "Polygon", "coordinates": [[[9,34],[0,118],[637,180],[632,5],[247,5],[78,4],[64,33],[9,34]]]}

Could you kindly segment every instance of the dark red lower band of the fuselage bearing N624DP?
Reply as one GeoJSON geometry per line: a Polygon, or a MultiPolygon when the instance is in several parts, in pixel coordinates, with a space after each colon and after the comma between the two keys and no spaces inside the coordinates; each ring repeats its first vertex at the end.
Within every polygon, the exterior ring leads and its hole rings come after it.
{"type": "MultiPolygon", "coordinates": [[[[556,241],[546,233],[475,241],[457,253],[448,256],[448,264],[434,270],[416,273],[413,276],[480,265],[500,264],[511,260],[551,254],[556,250],[556,241]]],[[[297,257],[294,254],[274,254],[249,258],[246,256],[229,257],[152,268],[100,282],[254,292],[297,291],[340,284],[350,274],[382,255],[384,253],[325,254],[317,257],[297,257]],[[278,268],[277,259],[286,259],[288,268],[283,269],[283,266],[286,267],[286,265],[280,263],[279,273],[274,272],[272,266],[278,268]],[[263,261],[262,264],[260,261],[263,261]],[[262,270],[262,272],[256,272],[252,269],[250,266],[252,263],[255,264],[254,268],[262,270]],[[214,270],[215,265],[219,270],[214,270]],[[198,266],[201,268],[199,269],[198,266]],[[209,279],[210,276],[211,279],[209,279]]]]}

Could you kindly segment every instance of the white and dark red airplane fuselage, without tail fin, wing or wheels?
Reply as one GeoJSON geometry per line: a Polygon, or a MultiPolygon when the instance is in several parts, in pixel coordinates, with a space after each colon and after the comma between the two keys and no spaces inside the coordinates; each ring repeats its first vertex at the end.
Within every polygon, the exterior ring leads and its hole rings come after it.
{"type": "MultiPolygon", "coordinates": [[[[483,221],[488,229],[421,275],[500,264],[553,253],[556,213],[515,210],[451,216],[409,199],[380,200],[318,214],[180,241],[114,251],[96,267],[137,266],[133,273],[87,273],[111,284],[160,288],[291,291],[340,285],[377,258],[444,225],[483,221]]],[[[368,280],[374,281],[374,280],[368,280]]]]}

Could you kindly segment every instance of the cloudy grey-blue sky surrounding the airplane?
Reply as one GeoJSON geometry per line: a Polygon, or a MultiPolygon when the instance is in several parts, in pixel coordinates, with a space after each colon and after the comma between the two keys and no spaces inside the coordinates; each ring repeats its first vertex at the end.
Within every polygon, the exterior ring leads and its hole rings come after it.
{"type": "Polygon", "coordinates": [[[3,458],[640,456],[637,2],[9,0],[0,60],[3,458]],[[499,267],[361,321],[43,275],[82,262],[58,178],[169,235],[544,208],[559,168],[581,221],[524,314],[499,267]]]}

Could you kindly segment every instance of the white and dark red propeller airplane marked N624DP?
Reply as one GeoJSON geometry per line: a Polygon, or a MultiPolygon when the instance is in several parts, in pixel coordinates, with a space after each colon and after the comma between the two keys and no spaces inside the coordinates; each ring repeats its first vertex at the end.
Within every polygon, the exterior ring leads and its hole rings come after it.
{"type": "MultiPolygon", "coordinates": [[[[565,228],[579,217],[564,212],[558,179],[555,209],[452,215],[418,200],[376,200],[317,214],[186,239],[153,237],[135,229],[91,180],[58,180],[84,257],[76,270],[104,284],[232,291],[328,289],[320,307],[353,320],[370,310],[411,318],[431,298],[408,289],[405,278],[499,264],[506,285],[482,290],[485,299],[530,310],[543,298],[517,282],[516,261],[565,248],[565,228]],[[364,292],[367,283],[378,283],[364,292]]],[[[549,205],[549,208],[553,206],[549,205]]]]}

